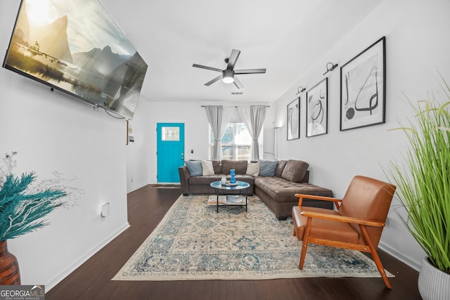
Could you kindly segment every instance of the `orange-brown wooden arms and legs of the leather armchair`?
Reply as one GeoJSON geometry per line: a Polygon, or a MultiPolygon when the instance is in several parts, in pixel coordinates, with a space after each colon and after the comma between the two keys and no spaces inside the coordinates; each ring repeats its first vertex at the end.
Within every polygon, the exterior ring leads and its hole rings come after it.
{"type": "MultiPolygon", "coordinates": [[[[335,206],[338,209],[342,202],[342,200],[336,199],[333,197],[323,197],[323,196],[304,195],[304,194],[295,194],[295,197],[299,198],[298,207],[302,207],[302,202],[303,202],[304,198],[314,199],[314,200],[323,200],[323,201],[333,201],[335,203],[335,206]]],[[[325,213],[316,212],[316,211],[302,211],[301,209],[299,209],[299,210],[293,209],[293,214],[296,214],[298,211],[300,211],[301,216],[307,217],[307,225],[304,229],[304,236],[302,239],[303,240],[302,252],[300,254],[300,264],[299,264],[300,270],[303,269],[304,259],[307,254],[307,248],[308,248],[309,243],[323,244],[325,246],[330,246],[330,247],[352,249],[352,250],[357,250],[357,251],[361,251],[361,252],[370,252],[372,254],[373,261],[375,261],[375,265],[377,266],[378,271],[380,272],[381,278],[383,278],[383,282],[385,282],[385,285],[387,288],[392,289],[392,285],[390,284],[390,281],[388,280],[387,275],[385,273],[385,268],[383,267],[383,263],[381,263],[380,257],[377,254],[378,245],[373,244],[373,242],[367,232],[367,226],[383,227],[383,226],[385,226],[385,222],[359,219],[359,218],[354,218],[354,217],[349,217],[349,216],[340,216],[340,215],[335,215],[335,214],[325,214],[325,213]],[[326,219],[326,220],[330,220],[330,221],[339,221],[339,222],[343,222],[343,223],[357,224],[361,230],[361,233],[364,237],[364,242],[366,242],[366,244],[352,244],[352,243],[347,243],[347,242],[339,242],[339,241],[334,241],[334,240],[325,240],[325,239],[316,238],[316,237],[309,237],[309,234],[311,232],[311,221],[313,218],[326,219]]],[[[294,226],[294,234],[293,234],[294,236],[297,235],[296,227],[297,226],[294,226]]],[[[299,237],[297,237],[297,238],[300,240],[299,237]]]]}

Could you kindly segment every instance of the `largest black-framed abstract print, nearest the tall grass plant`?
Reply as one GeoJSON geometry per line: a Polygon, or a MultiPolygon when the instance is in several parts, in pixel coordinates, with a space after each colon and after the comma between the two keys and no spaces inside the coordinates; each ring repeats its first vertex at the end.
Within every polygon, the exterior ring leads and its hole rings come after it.
{"type": "Polygon", "coordinates": [[[385,37],[340,68],[340,130],[385,123],[385,37]]]}

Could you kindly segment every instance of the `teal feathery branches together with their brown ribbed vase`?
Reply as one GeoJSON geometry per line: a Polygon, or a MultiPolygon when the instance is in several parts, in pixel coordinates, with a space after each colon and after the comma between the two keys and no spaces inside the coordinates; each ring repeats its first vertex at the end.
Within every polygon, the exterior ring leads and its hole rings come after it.
{"type": "Polygon", "coordinates": [[[20,285],[18,261],[8,252],[7,241],[47,225],[42,218],[60,207],[59,199],[66,195],[60,188],[31,190],[36,175],[11,174],[13,155],[6,155],[6,167],[0,168],[0,285],[20,285]]]}

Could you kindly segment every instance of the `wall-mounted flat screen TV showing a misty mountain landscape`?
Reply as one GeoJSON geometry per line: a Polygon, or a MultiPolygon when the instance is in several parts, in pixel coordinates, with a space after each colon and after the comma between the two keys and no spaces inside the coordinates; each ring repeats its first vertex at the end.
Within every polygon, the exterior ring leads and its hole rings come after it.
{"type": "Polygon", "coordinates": [[[98,0],[22,0],[3,67],[127,119],[147,71],[98,0]]]}

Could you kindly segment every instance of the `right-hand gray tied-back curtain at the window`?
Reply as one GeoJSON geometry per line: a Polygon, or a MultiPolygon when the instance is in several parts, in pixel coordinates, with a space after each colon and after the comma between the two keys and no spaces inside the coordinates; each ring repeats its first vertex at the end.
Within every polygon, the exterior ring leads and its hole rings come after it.
{"type": "Polygon", "coordinates": [[[258,138],[266,119],[266,110],[265,105],[238,106],[239,115],[252,136],[252,160],[259,159],[258,138]]]}

